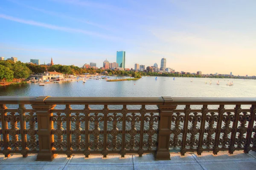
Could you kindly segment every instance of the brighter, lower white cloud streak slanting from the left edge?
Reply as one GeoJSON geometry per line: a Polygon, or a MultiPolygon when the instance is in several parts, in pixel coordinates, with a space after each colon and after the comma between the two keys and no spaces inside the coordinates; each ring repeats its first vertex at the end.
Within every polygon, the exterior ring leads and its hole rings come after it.
{"type": "Polygon", "coordinates": [[[0,18],[15,21],[15,22],[18,22],[18,23],[28,24],[28,25],[31,25],[31,26],[39,26],[39,27],[49,28],[49,29],[58,30],[58,31],[65,31],[65,32],[71,32],[71,33],[81,33],[81,34],[101,37],[101,38],[105,38],[105,39],[117,40],[116,37],[111,37],[111,36],[108,36],[108,35],[105,35],[105,34],[99,34],[99,33],[96,33],[96,32],[86,31],[86,30],[78,29],[78,28],[55,26],[55,25],[52,25],[52,24],[41,23],[41,22],[37,22],[37,21],[33,21],[33,20],[24,20],[24,19],[12,17],[12,16],[5,15],[5,14],[0,14],[0,18]]]}

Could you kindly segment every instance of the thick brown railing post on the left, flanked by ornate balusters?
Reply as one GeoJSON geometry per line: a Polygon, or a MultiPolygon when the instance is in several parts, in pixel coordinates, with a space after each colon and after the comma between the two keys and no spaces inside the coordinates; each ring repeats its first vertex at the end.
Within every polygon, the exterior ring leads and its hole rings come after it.
{"type": "Polygon", "coordinates": [[[55,105],[46,105],[44,99],[48,96],[39,96],[36,103],[32,105],[38,119],[38,140],[39,153],[36,161],[52,161],[57,154],[52,153],[52,143],[54,137],[52,135],[53,122],[51,121],[51,109],[55,105]]]}

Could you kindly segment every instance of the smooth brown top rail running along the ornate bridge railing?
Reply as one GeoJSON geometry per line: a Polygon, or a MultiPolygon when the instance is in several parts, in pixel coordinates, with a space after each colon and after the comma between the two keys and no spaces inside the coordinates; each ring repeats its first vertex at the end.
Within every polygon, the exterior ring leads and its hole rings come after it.
{"type": "Polygon", "coordinates": [[[256,98],[0,96],[0,104],[37,103],[47,105],[256,105],[256,98]]]}

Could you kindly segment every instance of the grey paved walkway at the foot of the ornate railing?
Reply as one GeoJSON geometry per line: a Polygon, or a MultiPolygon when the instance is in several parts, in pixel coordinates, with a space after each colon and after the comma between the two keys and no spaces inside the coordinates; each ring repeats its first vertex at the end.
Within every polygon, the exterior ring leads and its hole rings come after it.
{"type": "Polygon", "coordinates": [[[52,162],[35,161],[36,155],[29,155],[22,158],[21,155],[12,155],[9,158],[0,156],[0,170],[255,170],[256,152],[249,154],[235,152],[230,155],[227,152],[220,152],[218,156],[212,153],[186,153],[180,156],[179,153],[171,153],[170,161],[154,161],[152,154],[89,156],[76,155],[67,158],[66,155],[58,155],[52,162]]]}

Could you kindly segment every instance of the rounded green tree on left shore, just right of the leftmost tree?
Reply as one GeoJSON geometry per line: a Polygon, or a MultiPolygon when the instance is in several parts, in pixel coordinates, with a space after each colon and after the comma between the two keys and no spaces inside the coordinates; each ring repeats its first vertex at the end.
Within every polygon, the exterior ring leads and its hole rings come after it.
{"type": "Polygon", "coordinates": [[[29,77],[29,74],[32,73],[32,71],[29,70],[29,68],[27,68],[27,66],[20,61],[16,62],[13,66],[13,72],[13,77],[15,79],[26,79],[29,77]]]}

